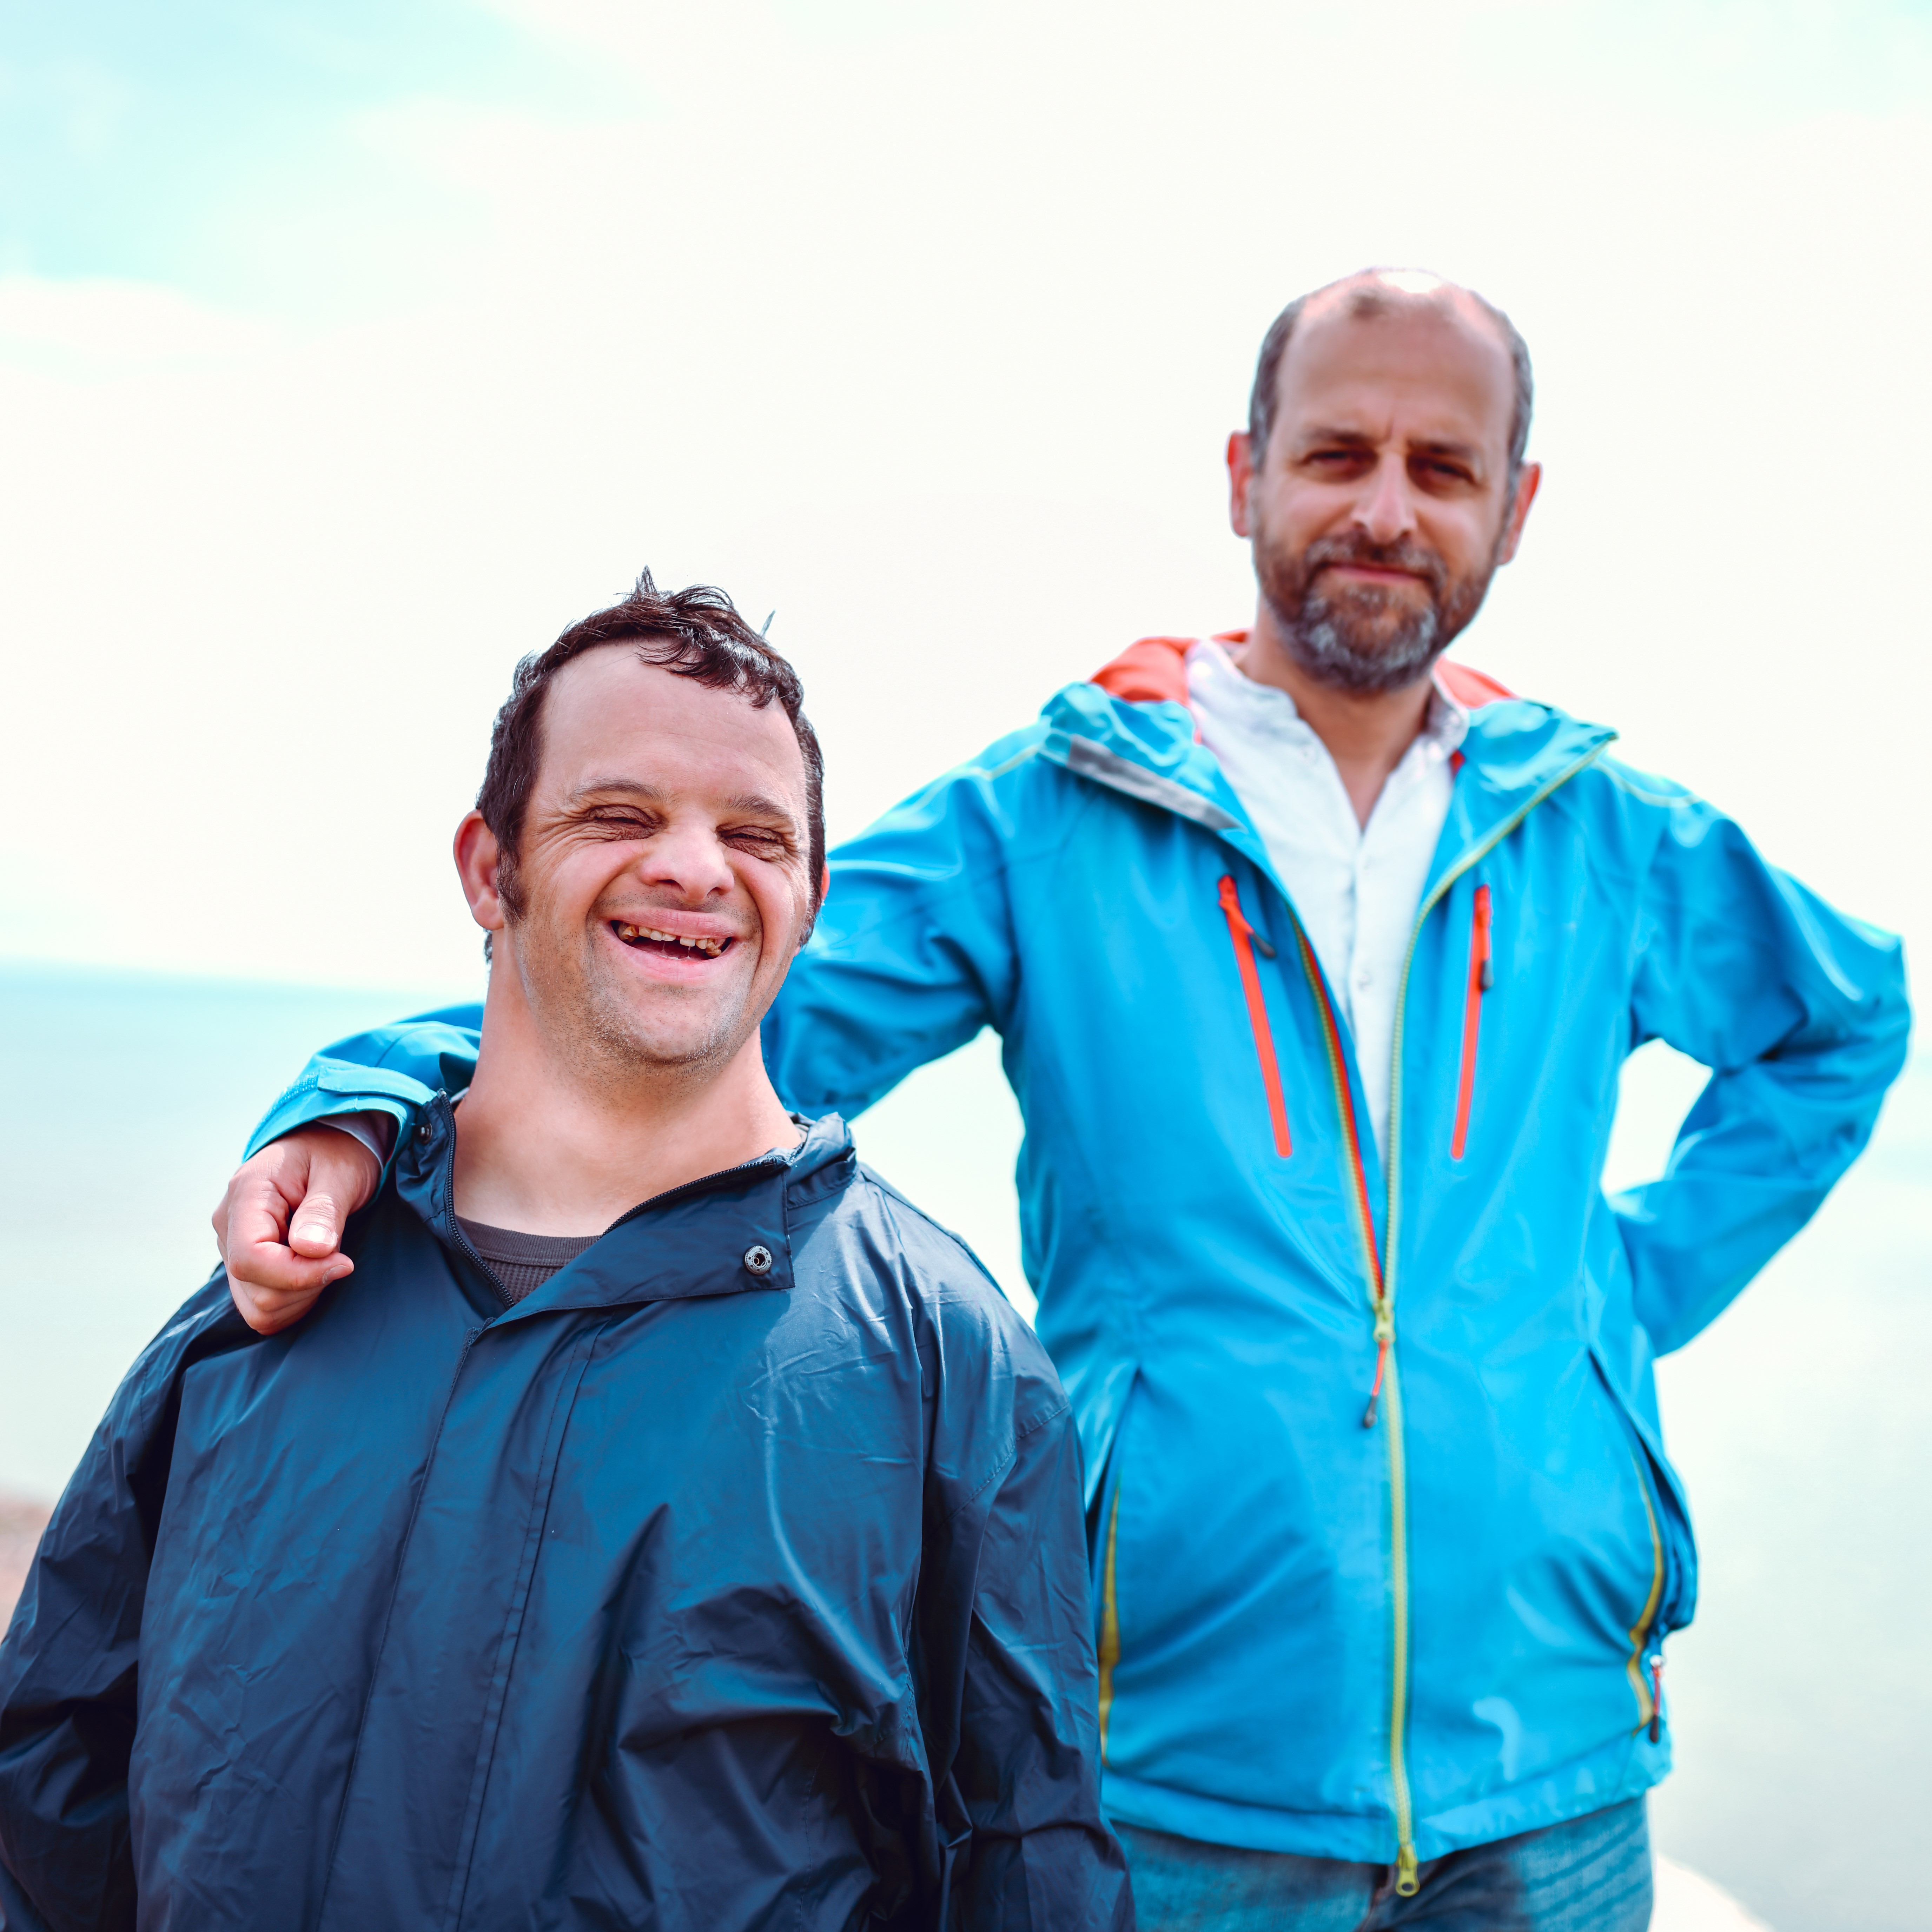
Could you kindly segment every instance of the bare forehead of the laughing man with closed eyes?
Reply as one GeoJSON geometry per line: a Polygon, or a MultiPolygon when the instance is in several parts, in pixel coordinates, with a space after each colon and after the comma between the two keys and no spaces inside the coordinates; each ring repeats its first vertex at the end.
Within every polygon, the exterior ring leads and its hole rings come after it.
{"type": "Polygon", "coordinates": [[[784,707],[639,663],[630,643],[572,659],[543,703],[539,796],[605,779],[694,798],[763,792],[804,817],[806,761],[784,707]]]}

